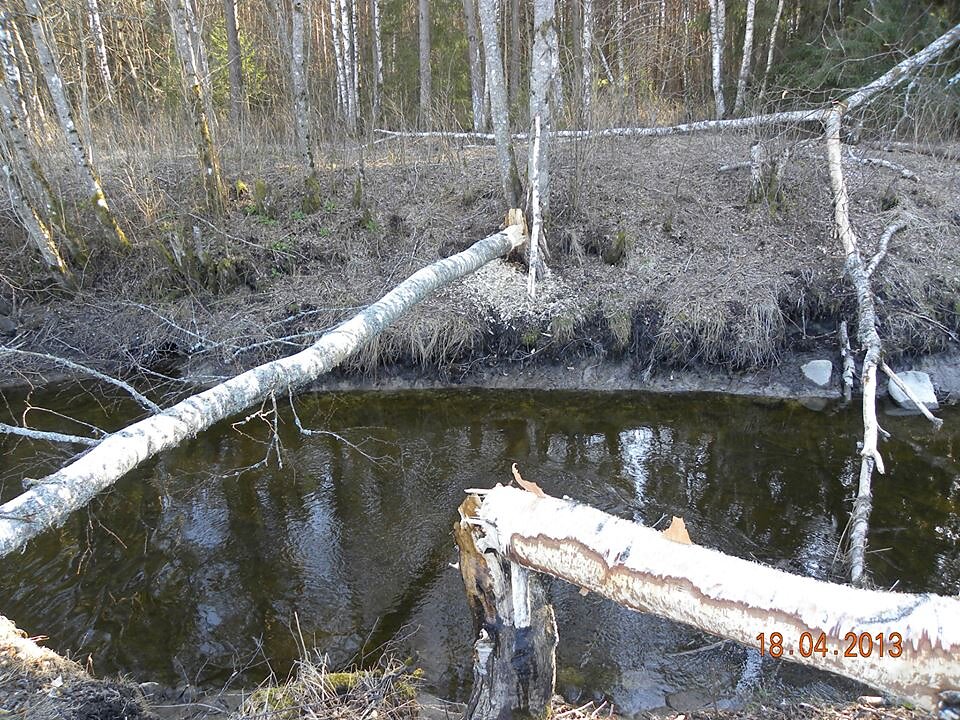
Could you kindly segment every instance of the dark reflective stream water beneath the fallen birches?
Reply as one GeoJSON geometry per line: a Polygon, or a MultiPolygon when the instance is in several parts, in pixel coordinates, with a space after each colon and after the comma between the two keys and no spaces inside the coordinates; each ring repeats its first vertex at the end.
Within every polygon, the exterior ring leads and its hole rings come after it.
{"type": "MultiPolygon", "coordinates": [[[[108,429],[132,412],[76,395],[29,402],[108,429]]],[[[0,414],[19,417],[25,398],[6,401],[0,414]]],[[[450,528],[463,488],[506,482],[512,462],[548,493],[647,524],[682,515],[699,544],[842,578],[855,408],[464,391],[314,395],[297,410],[304,426],[337,436],[301,436],[283,403],[281,467],[269,416],[222,423],[0,560],[0,612],[57,649],[89,654],[98,672],[249,685],[271,668],[285,673],[302,634],[332,665],[393,642],[437,692],[462,695],[470,622],[448,566],[450,528]]],[[[888,474],[875,482],[869,564],[880,587],[960,590],[960,413],[943,415],[940,433],[915,417],[882,418],[894,439],[882,448],[888,474]]],[[[37,411],[30,419],[64,427],[37,411]]],[[[19,478],[64,459],[39,444],[6,439],[0,448],[3,500],[19,478]]],[[[716,639],[559,582],[549,592],[561,686],[610,695],[630,712],[691,688],[729,696],[740,677],[745,652],[732,644],[690,653],[716,639]]],[[[808,690],[827,678],[765,668],[808,690]]]]}

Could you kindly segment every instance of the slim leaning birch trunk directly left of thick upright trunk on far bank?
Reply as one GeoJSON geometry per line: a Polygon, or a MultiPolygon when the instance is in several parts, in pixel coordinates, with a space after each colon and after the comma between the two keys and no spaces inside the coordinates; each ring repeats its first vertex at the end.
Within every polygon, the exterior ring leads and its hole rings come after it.
{"type": "Polygon", "coordinates": [[[510,142],[510,114],[507,109],[507,91],[504,87],[503,56],[500,53],[497,31],[496,0],[478,0],[480,30],[483,34],[484,65],[487,70],[487,87],[490,90],[490,116],[493,135],[497,144],[497,162],[500,165],[500,182],[507,207],[519,207],[523,197],[517,161],[510,142]]]}

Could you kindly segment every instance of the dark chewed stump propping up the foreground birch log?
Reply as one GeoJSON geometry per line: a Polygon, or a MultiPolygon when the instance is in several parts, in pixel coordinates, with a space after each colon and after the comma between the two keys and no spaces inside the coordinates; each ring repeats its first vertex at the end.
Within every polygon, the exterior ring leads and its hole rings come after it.
{"type": "Polygon", "coordinates": [[[557,623],[535,576],[484,552],[480,499],[460,505],[454,537],[473,616],[473,694],[465,720],[546,718],[556,676],[557,623]]]}

